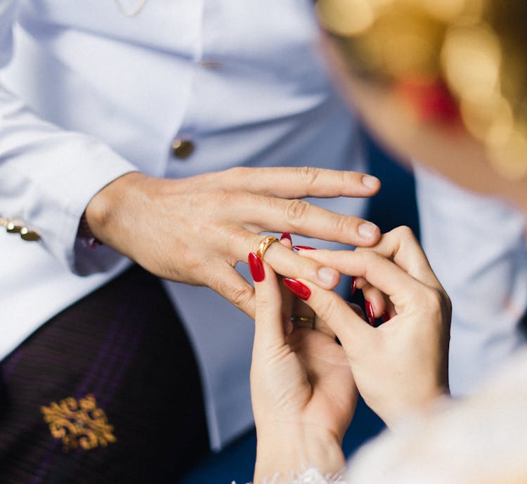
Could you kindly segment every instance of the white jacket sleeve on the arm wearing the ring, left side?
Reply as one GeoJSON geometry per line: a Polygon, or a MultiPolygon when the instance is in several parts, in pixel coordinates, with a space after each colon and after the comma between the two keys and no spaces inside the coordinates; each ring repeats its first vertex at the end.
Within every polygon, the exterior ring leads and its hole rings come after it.
{"type": "MultiPolygon", "coordinates": [[[[0,4],[0,68],[11,58],[17,2],[0,4]]],[[[75,273],[110,268],[121,258],[108,247],[82,250],[79,218],[93,195],[136,167],[104,143],[39,119],[0,84],[0,216],[19,219],[75,273]]]]}

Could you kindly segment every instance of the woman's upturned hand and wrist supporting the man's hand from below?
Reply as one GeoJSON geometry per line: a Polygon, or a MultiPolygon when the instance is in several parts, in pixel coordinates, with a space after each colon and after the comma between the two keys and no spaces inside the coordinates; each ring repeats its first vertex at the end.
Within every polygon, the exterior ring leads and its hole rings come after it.
{"type": "MultiPolygon", "coordinates": [[[[342,438],[358,393],[344,349],[330,334],[291,327],[278,278],[263,263],[255,282],[251,393],[257,449],[254,483],[280,483],[306,466],[344,469],[342,438]]],[[[324,327],[323,322],[320,326],[324,327]]]]}

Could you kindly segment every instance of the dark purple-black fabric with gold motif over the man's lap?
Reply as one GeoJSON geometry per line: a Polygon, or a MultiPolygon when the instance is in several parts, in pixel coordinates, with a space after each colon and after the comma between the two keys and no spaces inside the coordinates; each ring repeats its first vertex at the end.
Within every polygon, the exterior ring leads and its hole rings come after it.
{"type": "Polygon", "coordinates": [[[208,452],[197,365],[134,266],[0,365],[0,483],[174,483],[208,452]]]}

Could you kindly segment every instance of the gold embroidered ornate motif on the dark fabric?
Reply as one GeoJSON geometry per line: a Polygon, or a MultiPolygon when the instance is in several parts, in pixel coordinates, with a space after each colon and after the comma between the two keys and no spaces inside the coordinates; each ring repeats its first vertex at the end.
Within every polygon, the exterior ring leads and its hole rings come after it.
{"type": "Polygon", "coordinates": [[[106,447],[117,438],[113,426],[108,424],[104,410],[97,408],[95,397],[90,393],[79,401],[68,397],[59,403],[51,402],[48,407],[40,407],[44,421],[54,438],[63,441],[65,452],[82,447],[90,450],[98,445],[106,447]]]}

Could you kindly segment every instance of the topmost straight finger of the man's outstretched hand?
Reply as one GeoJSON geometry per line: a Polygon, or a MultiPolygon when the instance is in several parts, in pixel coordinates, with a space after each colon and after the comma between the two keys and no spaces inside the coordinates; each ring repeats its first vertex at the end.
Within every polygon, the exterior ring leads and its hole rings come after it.
{"type": "Polygon", "coordinates": [[[239,166],[223,172],[226,189],[281,198],[371,197],[379,178],[356,171],[338,171],[315,166],[239,166]]]}

